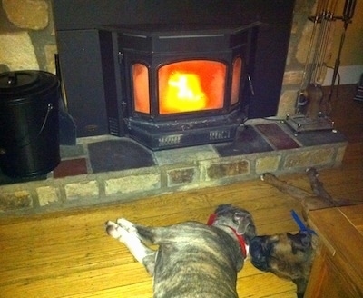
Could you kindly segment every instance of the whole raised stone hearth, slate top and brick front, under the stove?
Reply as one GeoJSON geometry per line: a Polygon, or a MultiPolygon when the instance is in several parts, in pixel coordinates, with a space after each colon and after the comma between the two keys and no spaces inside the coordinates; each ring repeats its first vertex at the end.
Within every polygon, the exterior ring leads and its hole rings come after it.
{"type": "Polygon", "coordinates": [[[334,167],[347,144],[336,131],[295,135],[282,122],[262,119],[240,126],[232,143],[156,152],[130,138],[79,138],[61,146],[62,162],[48,175],[31,181],[0,175],[0,211],[32,214],[334,167]]]}

